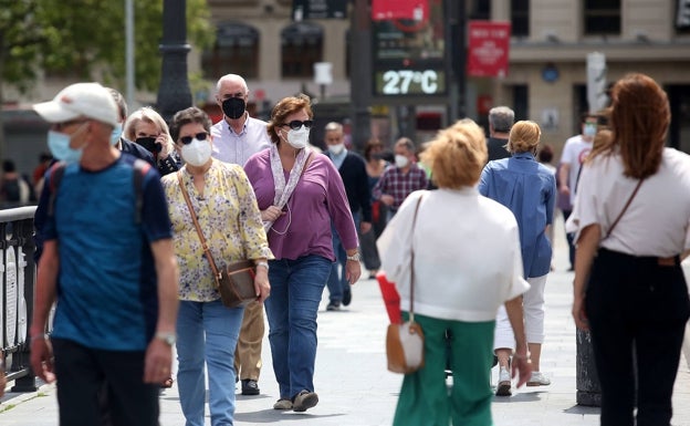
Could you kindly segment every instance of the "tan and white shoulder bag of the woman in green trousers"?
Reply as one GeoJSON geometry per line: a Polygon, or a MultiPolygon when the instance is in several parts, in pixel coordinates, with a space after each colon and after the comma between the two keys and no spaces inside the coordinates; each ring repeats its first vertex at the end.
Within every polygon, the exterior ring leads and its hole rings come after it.
{"type": "MultiPolygon", "coordinates": [[[[417,222],[417,212],[422,196],[417,200],[412,232],[417,222]]],[[[402,324],[388,324],[386,332],[386,357],[388,371],[393,373],[410,374],[424,367],[424,332],[421,325],[415,322],[415,249],[410,248],[410,310],[409,321],[402,324]]]]}

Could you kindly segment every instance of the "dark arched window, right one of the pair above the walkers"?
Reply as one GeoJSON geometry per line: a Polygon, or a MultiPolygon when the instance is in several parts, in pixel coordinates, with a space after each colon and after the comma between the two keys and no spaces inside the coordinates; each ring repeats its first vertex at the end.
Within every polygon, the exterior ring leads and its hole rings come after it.
{"type": "Polygon", "coordinates": [[[312,79],[314,63],[322,62],[323,29],[312,22],[296,22],[281,32],[283,77],[312,79]]]}

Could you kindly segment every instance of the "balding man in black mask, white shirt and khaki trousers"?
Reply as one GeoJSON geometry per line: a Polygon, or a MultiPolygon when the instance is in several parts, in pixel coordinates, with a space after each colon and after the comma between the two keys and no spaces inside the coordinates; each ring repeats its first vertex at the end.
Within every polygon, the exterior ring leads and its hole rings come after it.
{"type": "MultiPolygon", "coordinates": [[[[211,127],[212,156],[226,163],[244,166],[249,157],[271,146],[266,123],[249,116],[249,89],[240,75],[227,74],[216,85],[216,102],[223,117],[211,127]]],[[[236,377],[242,380],[242,395],[259,395],[261,343],[263,341],[263,304],[252,302],[244,318],[234,352],[236,377]]]]}

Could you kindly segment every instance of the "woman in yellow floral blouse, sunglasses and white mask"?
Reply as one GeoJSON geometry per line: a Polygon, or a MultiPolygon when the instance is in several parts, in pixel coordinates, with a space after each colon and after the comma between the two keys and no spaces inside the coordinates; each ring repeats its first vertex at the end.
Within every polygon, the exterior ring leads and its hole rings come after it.
{"type": "MultiPolygon", "coordinates": [[[[211,121],[190,107],[175,114],[170,136],[185,166],[178,172],[208,247],[219,268],[242,259],[257,263],[254,288],[270,293],[268,259],[273,259],[252,186],[241,166],[211,158],[211,121]]],[[[203,425],[203,366],[208,370],[211,424],[232,424],[233,368],[243,308],[226,308],[185,201],[177,174],[164,176],[180,270],[177,319],[178,388],[187,425],[203,425]]]]}

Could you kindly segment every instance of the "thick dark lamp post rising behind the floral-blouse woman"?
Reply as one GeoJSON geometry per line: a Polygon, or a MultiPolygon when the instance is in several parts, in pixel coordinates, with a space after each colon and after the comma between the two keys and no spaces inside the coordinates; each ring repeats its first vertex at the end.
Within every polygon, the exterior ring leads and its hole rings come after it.
{"type": "Polygon", "coordinates": [[[187,77],[187,1],[164,0],[163,3],[163,67],[156,106],[170,122],[172,115],[191,106],[191,91],[187,77]]]}

